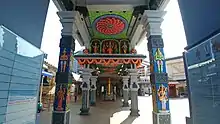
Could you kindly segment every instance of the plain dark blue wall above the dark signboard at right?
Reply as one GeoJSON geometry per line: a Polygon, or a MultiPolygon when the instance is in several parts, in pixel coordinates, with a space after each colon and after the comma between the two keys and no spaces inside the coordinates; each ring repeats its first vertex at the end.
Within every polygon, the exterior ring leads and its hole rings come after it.
{"type": "Polygon", "coordinates": [[[220,29],[220,0],[178,0],[187,44],[199,42],[220,29]]]}

